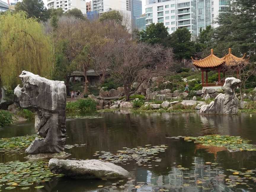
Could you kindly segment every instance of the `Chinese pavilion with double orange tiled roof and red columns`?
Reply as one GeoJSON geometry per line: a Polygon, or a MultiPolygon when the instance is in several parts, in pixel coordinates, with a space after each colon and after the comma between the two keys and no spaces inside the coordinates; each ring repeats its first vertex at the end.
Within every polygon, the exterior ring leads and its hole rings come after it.
{"type": "Polygon", "coordinates": [[[192,57],[193,65],[196,68],[200,68],[202,71],[202,86],[205,88],[222,88],[225,83],[225,65],[233,65],[234,62],[239,61],[248,61],[249,58],[245,58],[245,55],[243,57],[236,57],[231,53],[231,48],[228,49],[228,54],[226,54],[224,57],[219,58],[213,54],[213,49],[211,49],[211,55],[208,57],[205,57],[201,60],[194,60],[192,57]],[[218,71],[218,82],[215,83],[208,83],[208,72],[209,71],[218,71]],[[206,72],[206,82],[204,82],[204,72],[206,72]],[[223,72],[224,79],[220,79],[220,72],[223,72]]]}

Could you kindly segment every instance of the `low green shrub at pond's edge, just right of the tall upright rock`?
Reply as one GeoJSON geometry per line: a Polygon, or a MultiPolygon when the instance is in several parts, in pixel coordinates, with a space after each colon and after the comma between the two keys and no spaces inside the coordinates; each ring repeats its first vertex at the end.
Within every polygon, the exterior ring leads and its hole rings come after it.
{"type": "Polygon", "coordinates": [[[96,110],[97,103],[92,99],[79,99],[76,102],[68,102],[67,111],[93,111],[96,110]]]}

